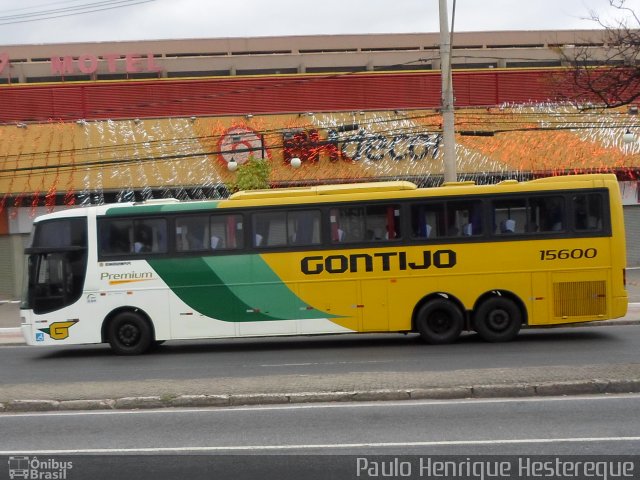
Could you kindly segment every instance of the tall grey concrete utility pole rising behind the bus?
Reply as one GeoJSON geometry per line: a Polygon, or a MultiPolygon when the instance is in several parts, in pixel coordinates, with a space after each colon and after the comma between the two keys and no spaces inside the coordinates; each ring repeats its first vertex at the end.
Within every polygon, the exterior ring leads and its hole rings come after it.
{"type": "Polygon", "coordinates": [[[447,0],[440,1],[440,72],[442,78],[442,142],[444,144],[444,181],[455,182],[456,138],[453,118],[453,82],[451,78],[451,37],[447,18],[447,0]]]}

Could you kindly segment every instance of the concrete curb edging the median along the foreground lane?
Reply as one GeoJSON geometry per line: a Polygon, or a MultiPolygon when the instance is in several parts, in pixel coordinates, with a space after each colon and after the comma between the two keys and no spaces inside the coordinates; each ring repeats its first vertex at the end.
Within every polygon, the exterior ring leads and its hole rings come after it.
{"type": "Polygon", "coordinates": [[[399,400],[456,400],[464,398],[525,398],[563,395],[639,393],[640,379],[581,380],[458,387],[380,389],[344,392],[258,393],[232,395],[177,395],[123,397],[95,400],[10,400],[0,412],[49,412],[73,410],[143,410],[159,408],[238,407],[325,402],[399,400]]]}

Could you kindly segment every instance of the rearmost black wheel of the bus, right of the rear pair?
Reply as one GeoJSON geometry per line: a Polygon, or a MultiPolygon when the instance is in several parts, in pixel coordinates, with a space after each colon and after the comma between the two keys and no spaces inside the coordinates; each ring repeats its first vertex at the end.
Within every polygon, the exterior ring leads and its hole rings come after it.
{"type": "Polygon", "coordinates": [[[480,304],[473,320],[475,331],[486,342],[510,342],[522,326],[522,312],[506,297],[491,297],[480,304]]]}

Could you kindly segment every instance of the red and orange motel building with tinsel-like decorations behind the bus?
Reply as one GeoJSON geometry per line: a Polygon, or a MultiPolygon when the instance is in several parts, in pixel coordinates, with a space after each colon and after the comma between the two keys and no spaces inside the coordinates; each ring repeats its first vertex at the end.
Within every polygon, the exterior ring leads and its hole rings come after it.
{"type": "MultiPolygon", "coordinates": [[[[18,295],[31,219],[52,209],[224,195],[250,158],[270,163],[277,186],[438,184],[438,42],[433,33],[0,47],[0,274],[18,279],[0,282],[0,298],[18,295]]],[[[637,109],[565,101],[565,55],[589,48],[597,59],[606,42],[602,31],[457,33],[459,177],[614,172],[628,231],[640,230],[640,144],[625,136],[637,109]]]]}

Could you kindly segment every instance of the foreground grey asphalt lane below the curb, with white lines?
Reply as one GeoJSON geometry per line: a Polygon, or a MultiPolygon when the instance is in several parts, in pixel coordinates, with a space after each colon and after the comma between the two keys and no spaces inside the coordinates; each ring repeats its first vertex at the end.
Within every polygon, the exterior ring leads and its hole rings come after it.
{"type": "MultiPolygon", "coordinates": [[[[291,465],[290,455],[304,454],[307,466],[315,472],[306,478],[353,478],[356,459],[338,459],[336,455],[637,457],[639,411],[640,395],[636,394],[5,414],[0,415],[0,455],[37,455],[41,459],[99,455],[102,462],[104,455],[163,455],[164,459],[154,457],[154,470],[141,472],[136,478],[152,478],[150,474],[166,478],[162,476],[163,462],[184,461],[168,455],[275,455],[271,467],[279,465],[291,474],[291,468],[301,468],[303,462],[291,465]],[[327,456],[319,461],[311,455],[327,456]],[[324,462],[325,468],[333,468],[336,461],[344,462],[349,477],[326,476],[327,470],[317,475],[315,463],[324,462]]],[[[71,458],[82,461],[82,457],[71,458]]],[[[111,459],[109,477],[103,471],[94,478],[117,478],[121,459],[111,459]]],[[[636,463],[635,468],[640,468],[636,463]]],[[[234,468],[243,470],[250,465],[245,458],[234,468]]],[[[73,473],[89,478],[78,468],[73,473]]],[[[131,473],[122,478],[133,478],[131,473]]],[[[244,478],[237,477],[235,471],[227,470],[224,476],[214,473],[208,471],[207,478],[244,478]]]]}

